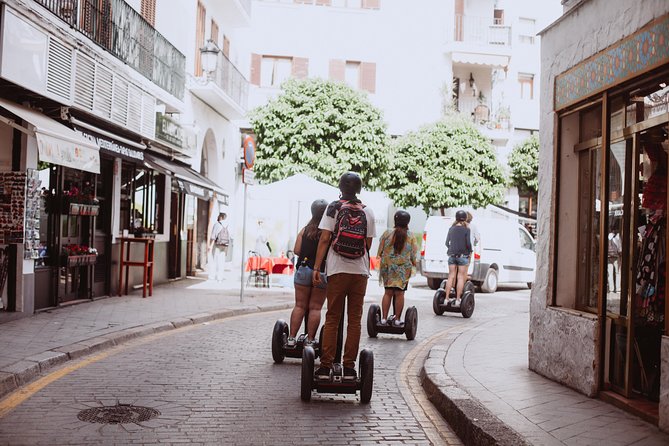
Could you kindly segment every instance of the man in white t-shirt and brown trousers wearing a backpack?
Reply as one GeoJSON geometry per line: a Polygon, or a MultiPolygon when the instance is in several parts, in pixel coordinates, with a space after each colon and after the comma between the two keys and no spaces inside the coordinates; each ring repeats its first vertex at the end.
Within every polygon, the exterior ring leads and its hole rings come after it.
{"type": "Polygon", "coordinates": [[[330,203],[321,219],[322,230],[314,262],[313,281],[321,283],[319,270],[327,253],[328,311],[325,314],[320,367],[316,379],[330,379],[337,349],[339,322],[347,305],[348,326],[344,345],[344,380],[355,380],[355,360],[358,356],[362,320],[362,306],[369,279],[369,249],[376,236],[374,213],[357,194],[362,190],[362,179],[347,172],[339,179],[340,200],[330,203]],[[329,251],[328,251],[329,250],[329,251]]]}

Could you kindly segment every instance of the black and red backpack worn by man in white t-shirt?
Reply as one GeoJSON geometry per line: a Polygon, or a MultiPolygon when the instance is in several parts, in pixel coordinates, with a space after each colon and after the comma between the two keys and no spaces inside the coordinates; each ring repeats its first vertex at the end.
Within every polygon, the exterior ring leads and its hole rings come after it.
{"type": "Polygon", "coordinates": [[[357,259],[367,251],[367,214],[359,201],[340,201],[332,249],[342,257],[357,259]]]}

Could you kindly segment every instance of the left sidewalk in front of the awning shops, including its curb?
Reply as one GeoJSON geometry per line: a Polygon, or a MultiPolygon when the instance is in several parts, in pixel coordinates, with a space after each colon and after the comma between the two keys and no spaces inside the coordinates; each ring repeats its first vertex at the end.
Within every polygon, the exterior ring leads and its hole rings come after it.
{"type": "Polygon", "coordinates": [[[293,289],[274,282],[270,288],[246,287],[240,302],[239,280],[239,269],[233,268],[223,282],[178,280],[156,285],[153,296],[147,298],[142,298],[140,289],[128,296],[87,301],[21,319],[7,315],[5,321],[0,319],[0,398],[50,368],[132,338],[293,307],[293,289]]]}

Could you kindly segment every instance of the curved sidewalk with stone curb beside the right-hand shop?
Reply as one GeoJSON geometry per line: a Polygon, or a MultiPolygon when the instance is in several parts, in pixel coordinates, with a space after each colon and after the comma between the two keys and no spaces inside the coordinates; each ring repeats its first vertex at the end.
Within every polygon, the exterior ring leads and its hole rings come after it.
{"type": "Polygon", "coordinates": [[[530,371],[528,316],[451,333],[430,351],[423,388],[463,443],[669,445],[656,426],[530,371]]]}

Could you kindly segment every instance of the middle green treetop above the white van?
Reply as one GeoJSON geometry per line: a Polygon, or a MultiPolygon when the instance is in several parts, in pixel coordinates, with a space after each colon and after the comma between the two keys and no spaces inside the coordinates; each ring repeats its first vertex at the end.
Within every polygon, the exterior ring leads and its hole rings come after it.
{"type": "Polygon", "coordinates": [[[384,190],[397,206],[425,212],[499,203],[505,178],[490,142],[467,118],[448,113],[395,141],[384,190]]]}

